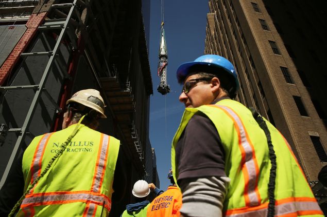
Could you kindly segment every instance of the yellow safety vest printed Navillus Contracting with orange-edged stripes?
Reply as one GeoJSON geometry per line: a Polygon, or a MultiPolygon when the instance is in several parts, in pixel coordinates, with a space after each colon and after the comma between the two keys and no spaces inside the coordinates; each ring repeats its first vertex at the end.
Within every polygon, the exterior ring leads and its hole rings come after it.
{"type": "MultiPolygon", "coordinates": [[[[23,155],[25,190],[76,125],[35,137],[23,155]]],[[[80,124],[64,152],[26,195],[17,216],[107,216],[119,140],[80,124]]]]}

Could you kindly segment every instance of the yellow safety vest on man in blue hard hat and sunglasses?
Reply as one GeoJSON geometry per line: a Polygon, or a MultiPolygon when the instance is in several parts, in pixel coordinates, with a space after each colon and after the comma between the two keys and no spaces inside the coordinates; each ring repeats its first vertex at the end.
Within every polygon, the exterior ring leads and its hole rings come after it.
{"type": "MultiPolygon", "coordinates": [[[[185,109],[171,149],[175,182],[178,179],[175,148],[188,121],[198,111],[213,122],[225,150],[225,172],[231,182],[223,205],[224,214],[266,216],[271,168],[267,138],[251,111],[236,101],[226,99],[215,105],[185,109]]],[[[323,216],[287,141],[273,125],[268,121],[266,124],[277,156],[275,216],[323,216]]]]}

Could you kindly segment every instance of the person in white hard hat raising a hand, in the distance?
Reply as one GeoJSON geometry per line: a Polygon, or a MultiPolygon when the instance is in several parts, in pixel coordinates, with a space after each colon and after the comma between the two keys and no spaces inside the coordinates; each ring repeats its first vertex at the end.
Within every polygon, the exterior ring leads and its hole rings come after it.
{"type": "Polygon", "coordinates": [[[162,190],[158,189],[153,183],[148,184],[144,180],[135,182],[132,190],[132,194],[135,196],[136,203],[128,204],[126,210],[123,212],[121,217],[127,216],[147,216],[147,209],[150,205],[148,201],[148,195],[153,190],[156,195],[163,193],[162,190]]]}

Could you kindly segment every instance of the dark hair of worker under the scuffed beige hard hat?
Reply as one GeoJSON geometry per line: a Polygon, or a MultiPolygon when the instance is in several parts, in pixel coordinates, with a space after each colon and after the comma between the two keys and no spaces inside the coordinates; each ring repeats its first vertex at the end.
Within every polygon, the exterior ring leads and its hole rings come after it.
{"type": "Polygon", "coordinates": [[[97,127],[98,120],[100,119],[100,113],[78,103],[72,103],[67,107],[68,113],[73,112],[72,114],[72,123],[78,123],[79,120],[85,115],[81,124],[84,124],[88,127],[97,127]]]}

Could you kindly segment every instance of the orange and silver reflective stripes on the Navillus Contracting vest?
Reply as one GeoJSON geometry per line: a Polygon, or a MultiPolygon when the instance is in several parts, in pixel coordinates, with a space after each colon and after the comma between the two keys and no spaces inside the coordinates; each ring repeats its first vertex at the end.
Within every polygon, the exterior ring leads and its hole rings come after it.
{"type": "MultiPolygon", "coordinates": [[[[32,160],[32,166],[37,168],[34,174],[39,174],[41,172],[42,166],[42,156],[47,145],[48,139],[52,133],[45,134],[41,141],[39,142],[35,155],[32,160]],[[40,172],[39,172],[40,171],[40,172]]],[[[97,205],[103,205],[110,211],[111,209],[111,200],[104,194],[99,194],[102,181],[104,179],[104,174],[107,165],[107,156],[109,150],[110,136],[101,133],[100,147],[98,150],[95,173],[93,176],[92,188],[91,191],[65,191],[65,192],[51,192],[51,193],[29,193],[26,195],[26,198],[22,202],[22,208],[28,208],[28,206],[39,206],[39,205],[51,205],[51,204],[66,204],[74,202],[84,202],[87,203],[87,206],[84,210],[83,216],[93,216],[96,211],[97,205]],[[91,204],[93,205],[91,206],[91,204]],[[91,213],[91,215],[90,215],[91,213]]],[[[38,176],[36,176],[38,177],[38,176]]],[[[23,210],[24,211],[24,210],[23,210]]],[[[31,212],[29,210],[28,212],[31,212]]],[[[26,214],[29,216],[28,214],[26,214]]]]}

